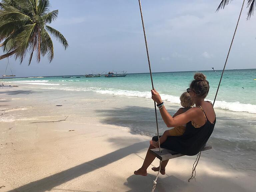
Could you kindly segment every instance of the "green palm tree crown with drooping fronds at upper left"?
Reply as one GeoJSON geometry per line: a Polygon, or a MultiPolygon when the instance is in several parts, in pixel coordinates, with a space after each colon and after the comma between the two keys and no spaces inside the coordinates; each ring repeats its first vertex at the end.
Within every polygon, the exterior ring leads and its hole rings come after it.
{"type": "Polygon", "coordinates": [[[49,12],[49,0],[1,0],[0,2],[0,47],[4,55],[0,60],[15,56],[22,63],[27,53],[30,65],[34,51],[37,62],[41,55],[53,59],[53,43],[49,33],[64,47],[68,47],[65,37],[47,25],[58,17],[58,10],[49,12]],[[1,43],[2,42],[2,43],[1,43]]]}

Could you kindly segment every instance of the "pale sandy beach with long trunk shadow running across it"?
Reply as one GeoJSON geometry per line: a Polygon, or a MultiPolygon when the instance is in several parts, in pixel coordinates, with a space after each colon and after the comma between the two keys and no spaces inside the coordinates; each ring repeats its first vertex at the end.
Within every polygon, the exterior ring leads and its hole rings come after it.
{"type": "MultiPolygon", "coordinates": [[[[150,99],[29,86],[0,90],[0,192],[151,191],[156,172],[149,168],[146,177],[133,175],[151,137],[111,120],[127,106],[153,108],[150,99]],[[31,124],[67,116],[66,121],[31,124]]],[[[196,156],[179,157],[169,161],[155,191],[254,192],[255,169],[228,166],[234,157],[212,147],[202,152],[197,181],[187,182],[196,156]]],[[[157,159],[152,163],[158,164],[157,159]]]]}

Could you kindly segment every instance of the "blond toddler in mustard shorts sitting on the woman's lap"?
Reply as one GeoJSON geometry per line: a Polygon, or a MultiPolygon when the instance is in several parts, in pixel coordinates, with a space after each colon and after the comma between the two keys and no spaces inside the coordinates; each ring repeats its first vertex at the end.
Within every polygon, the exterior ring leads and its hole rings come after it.
{"type": "MultiPolygon", "coordinates": [[[[184,93],[181,94],[180,96],[180,103],[181,106],[183,108],[180,108],[174,115],[173,117],[176,117],[177,115],[186,112],[187,110],[189,110],[193,105],[195,105],[195,102],[191,100],[189,93],[186,91],[184,93]]],[[[161,109],[161,106],[163,106],[163,103],[161,103],[158,108],[161,109]]],[[[182,126],[177,126],[174,127],[172,129],[169,129],[167,131],[164,132],[164,134],[161,136],[160,138],[160,145],[166,141],[167,137],[169,136],[181,136],[184,134],[185,130],[186,130],[186,124],[182,125],[182,126]]],[[[151,145],[153,145],[154,147],[158,148],[158,142],[151,140],[149,142],[151,145]]]]}

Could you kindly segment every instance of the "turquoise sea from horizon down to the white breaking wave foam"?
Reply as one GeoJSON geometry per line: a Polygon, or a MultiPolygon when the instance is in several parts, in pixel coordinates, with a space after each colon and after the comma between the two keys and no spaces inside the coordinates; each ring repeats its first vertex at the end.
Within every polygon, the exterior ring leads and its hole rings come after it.
{"type": "MultiPolygon", "coordinates": [[[[221,70],[202,71],[210,83],[206,99],[213,101],[221,70]]],[[[162,98],[171,103],[180,103],[179,96],[189,87],[195,71],[153,73],[154,87],[162,98]]],[[[46,89],[67,91],[93,91],[101,94],[125,95],[150,98],[151,81],[149,73],[128,74],[126,77],[105,78],[44,78],[3,79],[6,83],[41,85],[46,89]]],[[[256,69],[225,70],[215,108],[234,112],[256,113],[256,69]]]]}

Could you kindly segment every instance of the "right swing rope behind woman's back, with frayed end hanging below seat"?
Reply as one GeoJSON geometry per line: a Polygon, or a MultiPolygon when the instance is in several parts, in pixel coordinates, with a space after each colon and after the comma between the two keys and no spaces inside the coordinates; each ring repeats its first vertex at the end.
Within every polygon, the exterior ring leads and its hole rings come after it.
{"type": "MultiPolygon", "coordinates": [[[[223,67],[223,70],[222,70],[222,73],[221,73],[221,77],[220,77],[220,82],[219,82],[219,85],[218,85],[218,88],[217,88],[217,91],[216,91],[216,95],[215,95],[215,98],[214,98],[214,101],[213,101],[213,105],[214,106],[214,103],[216,101],[216,98],[217,98],[217,95],[218,95],[218,92],[219,92],[219,88],[220,88],[220,83],[221,83],[221,80],[222,80],[222,76],[223,76],[223,73],[225,71],[225,68],[226,68],[226,64],[227,64],[227,61],[228,61],[228,57],[229,57],[229,53],[230,53],[230,50],[231,50],[231,47],[232,47],[232,44],[233,44],[233,41],[234,41],[234,38],[235,38],[235,35],[236,35],[236,30],[237,30],[237,27],[238,27],[238,23],[240,21],[240,17],[242,15],[242,11],[243,11],[243,8],[244,8],[244,2],[245,0],[243,1],[243,4],[242,4],[242,8],[241,8],[241,11],[240,11],[240,14],[239,14],[239,17],[238,17],[238,21],[237,21],[237,24],[236,24],[236,29],[235,29],[235,32],[234,32],[234,35],[233,35],[233,38],[232,38],[232,41],[231,41],[231,44],[230,44],[230,47],[229,47],[229,50],[228,50],[228,55],[227,55],[227,58],[226,58],[226,61],[225,61],[225,65],[223,67]]],[[[191,179],[195,179],[196,180],[196,166],[199,162],[199,159],[200,159],[200,156],[201,156],[201,151],[198,153],[197,157],[196,157],[196,161],[194,162],[193,164],[193,169],[192,169],[192,173],[191,173],[191,176],[190,178],[188,179],[188,182],[191,180],[191,179]],[[195,165],[196,163],[196,165],[195,165]],[[195,165],[195,167],[194,167],[195,165]]]]}

